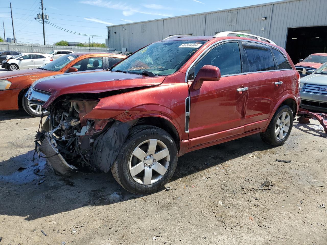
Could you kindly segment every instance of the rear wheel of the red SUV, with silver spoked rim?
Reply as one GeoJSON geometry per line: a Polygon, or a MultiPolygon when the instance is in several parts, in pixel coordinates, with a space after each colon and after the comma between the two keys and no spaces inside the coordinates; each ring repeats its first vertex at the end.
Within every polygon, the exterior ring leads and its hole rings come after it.
{"type": "Polygon", "coordinates": [[[291,107],[287,105],[279,107],[272,117],[267,130],[260,133],[261,139],[270,145],[283,145],[291,133],[293,118],[291,107]]]}

